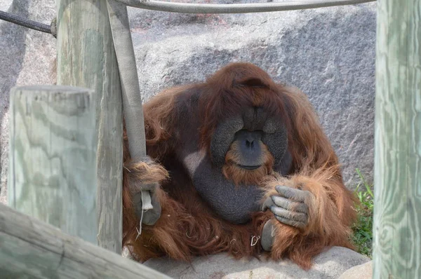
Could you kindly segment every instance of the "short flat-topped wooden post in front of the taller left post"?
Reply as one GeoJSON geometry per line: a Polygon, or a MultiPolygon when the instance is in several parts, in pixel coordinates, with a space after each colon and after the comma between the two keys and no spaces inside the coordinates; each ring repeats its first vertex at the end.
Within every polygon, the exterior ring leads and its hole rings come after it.
{"type": "Polygon", "coordinates": [[[96,244],[92,92],[29,86],[10,98],[9,205],[96,244]]]}

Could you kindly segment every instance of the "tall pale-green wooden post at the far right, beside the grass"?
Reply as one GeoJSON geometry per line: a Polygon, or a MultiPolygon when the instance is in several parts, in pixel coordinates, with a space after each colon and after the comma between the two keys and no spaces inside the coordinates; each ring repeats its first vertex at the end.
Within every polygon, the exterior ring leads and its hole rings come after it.
{"type": "Polygon", "coordinates": [[[377,1],[373,278],[421,278],[421,0],[377,1]]]}

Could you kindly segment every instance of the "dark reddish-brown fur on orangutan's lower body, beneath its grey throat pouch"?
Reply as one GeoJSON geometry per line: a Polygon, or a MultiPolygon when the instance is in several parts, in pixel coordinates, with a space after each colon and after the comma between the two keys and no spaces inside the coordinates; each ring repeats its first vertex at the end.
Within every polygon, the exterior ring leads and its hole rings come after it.
{"type": "Polygon", "coordinates": [[[259,245],[250,246],[251,236],[258,236],[261,222],[256,215],[253,224],[235,225],[215,218],[211,210],[203,205],[194,190],[189,199],[195,200],[188,205],[169,197],[162,189],[157,189],[162,205],[161,218],[154,226],[142,226],[142,235],[136,241],[139,219],[135,217],[133,205],[127,203],[131,193],[123,190],[126,199],[124,212],[123,245],[129,247],[132,256],[138,261],[168,255],[173,259],[189,261],[192,255],[229,252],[236,258],[251,256],[261,251],[259,245]]]}

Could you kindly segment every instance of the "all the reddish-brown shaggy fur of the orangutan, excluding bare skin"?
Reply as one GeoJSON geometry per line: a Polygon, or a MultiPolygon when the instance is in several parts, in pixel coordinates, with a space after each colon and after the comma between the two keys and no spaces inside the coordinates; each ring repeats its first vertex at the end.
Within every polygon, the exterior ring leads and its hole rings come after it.
{"type": "MultiPolygon", "coordinates": [[[[342,183],[338,158],[323,133],[311,104],[304,93],[274,83],[262,69],[253,64],[236,63],[216,72],[205,83],[172,88],[156,95],[144,105],[147,154],[150,162],[131,162],[127,140],[124,148],[123,173],[123,245],[133,257],[145,261],[168,255],[189,261],[193,255],[229,252],[236,258],[263,253],[262,228],[269,220],[275,224],[275,238],[269,257],[289,257],[302,268],[309,268],[312,258],[326,247],[352,248],[349,226],[356,217],[352,193],[342,183]],[[200,92],[197,107],[189,97],[200,92]],[[285,120],[288,151],[293,164],[288,177],[272,171],[273,157],[265,149],[265,166],[245,174],[232,165],[235,148],[227,153],[223,168],[234,182],[258,182],[265,196],[276,194],[278,184],[310,191],[314,198],[309,206],[309,225],[297,229],[281,224],[270,211],[250,213],[247,224],[230,224],[220,219],[203,202],[174,153],[182,142],[180,130],[185,121],[197,121],[200,147],[209,151],[210,140],[221,120],[241,114],[244,106],[263,107],[269,114],[285,120]],[[188,107],[186,115],[180,107],[188,107]],[[168,172],[163,165],[171,165],[168,172]],[[158,182],[156,195],[162,214],[154,226],[142,226],[135,216],[131,197],[143,183],[158,182]],[[254,236],[254,238],[253,238],[254,236]],[[255,244],[255,245],[253,245],[255,244]]],[[[195,131],[192,130],[192,133],[195,131]]]]}

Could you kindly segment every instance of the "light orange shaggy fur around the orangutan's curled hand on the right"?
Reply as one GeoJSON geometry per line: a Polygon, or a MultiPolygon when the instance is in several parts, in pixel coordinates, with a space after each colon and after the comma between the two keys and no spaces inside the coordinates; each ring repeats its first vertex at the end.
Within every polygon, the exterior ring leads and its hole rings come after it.
{"type": "Polygon", "coordinates": [[[352,234],[349,224],[355,218],[353,196],[344,191],[335,177],[337,171],[337,166],[333,166],[314,172],[303,171],[289,178],[267,177],[265,198],[277,194],[276,185],[300,188],[314,196],[305,200],[309,207],[309,225],[305,229],[295,229],[272,219],[276,224],[272,259],[290,257],[303,268],[310,268],[312,258],[326,247],[354,248],[349,242],[352,234]]]}

